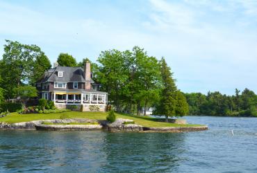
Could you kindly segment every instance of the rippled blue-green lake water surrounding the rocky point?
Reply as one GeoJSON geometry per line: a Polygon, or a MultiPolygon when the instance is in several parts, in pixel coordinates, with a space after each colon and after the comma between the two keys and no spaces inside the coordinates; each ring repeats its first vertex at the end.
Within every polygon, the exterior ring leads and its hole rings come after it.
{"type": "Polygon", "coordinates": [[[0,172],[257,172],[257,118],[185,119],[210,129],[181,134],[2,130],[0,172]]]}

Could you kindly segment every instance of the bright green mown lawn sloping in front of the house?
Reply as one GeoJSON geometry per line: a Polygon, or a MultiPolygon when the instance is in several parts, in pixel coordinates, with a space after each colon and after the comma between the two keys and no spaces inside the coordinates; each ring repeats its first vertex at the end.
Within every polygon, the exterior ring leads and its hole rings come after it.
{"type": "MultiPolygon", "coordinates": [[[[0,122],[27,122],[31,120],[49,120],[59,119],[60,116],[67,115],[69,118],[88,118],[97,120],[106,120],[106,112],[81,112],[81,111],[68,111],[63,113],[31,113],[31,114],[19,114],[10,113],[10,115],[0,118],[0,122]]],[[[148,116],[131,116],[127,114],[115,113],[117,118],[126,118],[135,121],[136,124],[144,127],[192,127],[199,125],[176,125],[170,122],[158,122],[157,118],[151,118],[148,116]]]]}

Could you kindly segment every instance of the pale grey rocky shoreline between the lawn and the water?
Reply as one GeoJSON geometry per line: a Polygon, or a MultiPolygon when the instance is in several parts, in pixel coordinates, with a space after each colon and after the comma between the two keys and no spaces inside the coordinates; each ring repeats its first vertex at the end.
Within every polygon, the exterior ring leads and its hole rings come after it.
{"type": "Polygon", "coordinates": [[[108,131],[138,131],[138,132],[183,132],[200,131],[208,129],[207,126],[196,127],[143,127],[133,123],[133,120],[117,118],[115,122],[109,123],[106,120],[89,120],[85,118],[55,119],[55,120],[33,120],[30,122],[17,122],[8,124],[0,122],[0,129],[26,129],[26,130],[46,130],[46,131],[90,131],[107,129],[108,131]],[[46,125],[44,122],[53,123],[46,125]],[[98,125],[62,125],[70,122],[92,123],[98,122],[98,125]],[[59,124],[59,125],[58,125],[59,124]]]}

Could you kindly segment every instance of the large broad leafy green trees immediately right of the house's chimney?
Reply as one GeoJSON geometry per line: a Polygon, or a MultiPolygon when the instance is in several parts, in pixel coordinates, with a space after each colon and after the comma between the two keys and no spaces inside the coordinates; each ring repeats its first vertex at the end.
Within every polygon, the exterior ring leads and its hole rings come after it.
{"type": "Polygon", "coordinates": [[[131,112],[136,105],[139,113],[142,105],[149,107],[158,100],[160,68],[156,57],[150,57],[144,49],[135,46],[132,51],[103,51],[95,70],[101,89],[108,91],[108,99],[117,111],[131,112]]]}

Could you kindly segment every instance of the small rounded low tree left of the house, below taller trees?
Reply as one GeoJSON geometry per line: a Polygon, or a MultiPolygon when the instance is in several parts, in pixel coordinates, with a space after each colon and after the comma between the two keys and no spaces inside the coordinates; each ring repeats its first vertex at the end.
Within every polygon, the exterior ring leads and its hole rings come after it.
{"type": "Polygon", "coordinates": [[[38,96],[38,91],[34,86],[18,86],[13,89],[15,96],[20,98],[22,102],[26,105],[26,101],[30,98],[35,98],[38,96]]]}

